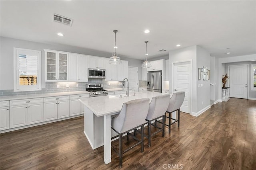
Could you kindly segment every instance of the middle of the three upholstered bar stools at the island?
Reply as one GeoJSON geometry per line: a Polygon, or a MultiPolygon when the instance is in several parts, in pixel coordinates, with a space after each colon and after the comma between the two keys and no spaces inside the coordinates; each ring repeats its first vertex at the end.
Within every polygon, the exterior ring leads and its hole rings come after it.
{"type": "Polygon", "coordinates": [[[154,121],[161,117],[163,121],[165,121],[165,112],[167,110],[169,102],[170,94],[155,96],[150,102],[148,115],[146,117],[146,121],[148,121],[148,136],[145,135],[148,138],[148,147],[151,146],[151,137],[156,135],[158,132],[162,131],[162,137],[164,137],[164,124],[162,125],[162,127],[158,127],[156,126],[156,124],[151,123],[151,121],[154,121]],[[151,125],[158,128],[159,130],[151,134],[151,125]]]}

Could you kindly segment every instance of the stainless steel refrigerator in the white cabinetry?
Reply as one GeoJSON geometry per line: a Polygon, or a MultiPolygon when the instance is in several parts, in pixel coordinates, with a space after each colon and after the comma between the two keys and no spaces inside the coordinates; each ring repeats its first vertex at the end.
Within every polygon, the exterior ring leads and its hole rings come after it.
{"type": "Polygon", "coordinates": [[[162,93],[162,71],[147,73],[147,91],[162,93]]]}

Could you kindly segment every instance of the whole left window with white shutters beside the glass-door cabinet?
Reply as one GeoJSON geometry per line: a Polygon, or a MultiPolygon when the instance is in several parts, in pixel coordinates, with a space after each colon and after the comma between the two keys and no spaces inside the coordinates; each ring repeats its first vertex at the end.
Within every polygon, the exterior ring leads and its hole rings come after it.
{"type": "Polygon", "coordinates": [[[14,48],[14,91],[41,90],[41,51],[14,48]]]}

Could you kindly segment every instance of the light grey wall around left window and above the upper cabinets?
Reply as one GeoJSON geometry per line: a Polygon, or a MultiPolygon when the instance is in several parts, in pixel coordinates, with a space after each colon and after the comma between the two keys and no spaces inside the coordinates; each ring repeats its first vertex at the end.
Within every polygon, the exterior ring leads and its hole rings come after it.
{"type": "MultiPolygon", "coordinates": [[[[19,39],[12,39],[7,37],[0,37],[0,90],[13,89],[13,48],[24,48],[42,51],[42,88],[45,88],[44,82],[44,49],[52,49],[58,51],[65,51],[70,53],[79,53],[85,55],[94,55],[99,57],[111,57],[112,53],[104,53],[102,51],[94,51],[81,47],[74,47],[69,45],[57,45],[37,43],[32,41],[24,41],[19,39]]],[[[120,56],[121,60],[129,61],[129,66],[138,67],[138,79],[142,79],[141,60],[130,59],[120,56]]]]}

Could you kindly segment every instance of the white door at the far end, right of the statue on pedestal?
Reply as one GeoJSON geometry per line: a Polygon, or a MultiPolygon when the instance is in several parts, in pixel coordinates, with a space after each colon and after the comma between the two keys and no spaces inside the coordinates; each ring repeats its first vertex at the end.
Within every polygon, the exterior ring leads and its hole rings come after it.
{"type": "Polygon", "coordinates": [[[247,99],[247,65],[229,66],[230,97],[247,99]]]}

